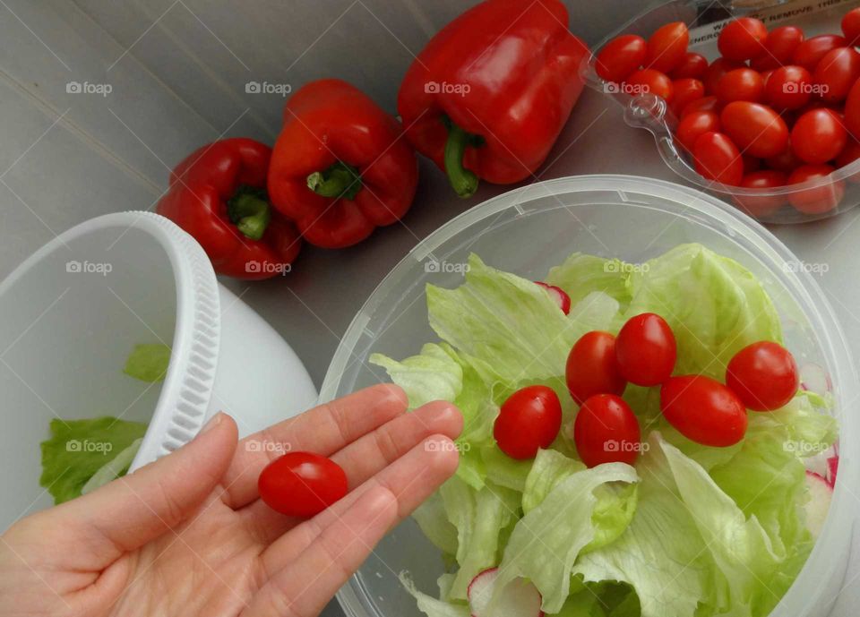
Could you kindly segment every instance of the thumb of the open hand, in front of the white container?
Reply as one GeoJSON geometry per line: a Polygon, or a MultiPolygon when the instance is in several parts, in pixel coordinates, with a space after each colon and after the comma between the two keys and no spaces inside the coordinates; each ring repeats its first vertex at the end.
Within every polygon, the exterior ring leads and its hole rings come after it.
{"type": "Polygon", "coordinates": [[[57,506],[65,528],[106,563],[188,518],[211,495],[236,450],[236,423],[219,413],[179,450],[57,506]]]}

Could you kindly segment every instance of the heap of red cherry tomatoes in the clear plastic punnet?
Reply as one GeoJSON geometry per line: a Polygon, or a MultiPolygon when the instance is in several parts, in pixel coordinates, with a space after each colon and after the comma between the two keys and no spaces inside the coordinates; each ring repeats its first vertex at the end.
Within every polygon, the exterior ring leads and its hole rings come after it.
{"type": "MultiPolygon", "coordinates": [[[[846,13],[843,36],[806,39],[796,26],[770,32],[752,17],[719,33],[720,57],[709,64],[687,50],[683,22],[646,40],[623,35],[598,54],[598,76],[618,91],[651,92],[678,119],[675,140],[704,178],[749,189],[774,189],[829,176],[860,158],[860,8],[846,13]]],[[[796,210],[835,209],[839,182],[787,193],[796,210]]],[[[766,217],[782,194],[736,195],[738,205],[766,217]]]]}

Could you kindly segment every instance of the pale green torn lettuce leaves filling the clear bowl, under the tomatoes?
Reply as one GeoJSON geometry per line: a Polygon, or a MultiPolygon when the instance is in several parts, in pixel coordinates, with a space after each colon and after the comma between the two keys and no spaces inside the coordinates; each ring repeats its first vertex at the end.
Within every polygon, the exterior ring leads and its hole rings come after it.
{"type": "Polygon", "coordinates": [[[453,564],[438,597],[401,579],[428,617],[466,617],[472,578],[499,567],[499,590],[531,581],[548,615],[763,617],[813,546],[804,521],[803,456],[829,447],[836,421],[821,398],[798,392],[786,407],[750,413],[744,440],[711,448],[687,440],[659,412],[659,389],[628,385],[642,425],[634,467],[586,468],[570,437],[576,414],[564,381],[567,354],[589,330],[617,333],[632,315],[663,316],[675,332],[675,373],[721,380],[742,347],[782,342],[778,313],[753,275],[699,244],[633,266],[581,253],[546,282],[571,296],[564,315],[545,289],[469,258],[463,285],[428,286],[441,339],[401,361],[374,355],[409,406],[434,399],[463,412],[460,467],[414,517],[453,564]],[[505,456],[493,423],[513,391],[553,388],[563,426],[534,460],[505,456]],[[787,447],[787,442],[810,447],[787,447]]]}

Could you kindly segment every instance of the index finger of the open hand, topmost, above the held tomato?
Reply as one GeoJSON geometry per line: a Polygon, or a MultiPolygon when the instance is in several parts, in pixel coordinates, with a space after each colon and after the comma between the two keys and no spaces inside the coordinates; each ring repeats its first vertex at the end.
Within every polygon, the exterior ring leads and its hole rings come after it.
{"type": "Polygon", "coordinates": [[[406,411],[406,394],[397,386],[380,384],[314,407],[239,442],[233,464],[224,476],[223,500],[242,508],[257,498],[262,468],[283,452],[307,450],[330,456],[362,435],[406,411]],[[280,448],[271,447],[273,445],[280,448]]]}

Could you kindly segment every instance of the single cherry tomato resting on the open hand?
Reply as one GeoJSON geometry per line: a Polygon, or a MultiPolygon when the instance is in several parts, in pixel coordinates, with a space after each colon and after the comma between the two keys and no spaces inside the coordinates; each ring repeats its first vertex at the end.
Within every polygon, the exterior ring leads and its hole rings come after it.
{"type": "Polygon", "coordinates": [[[263,468],[257,489],[260,499],[272,510],[309,518],[347,494],[347,475],[330,458],[313,452],[288,452],[263,468]]]}

